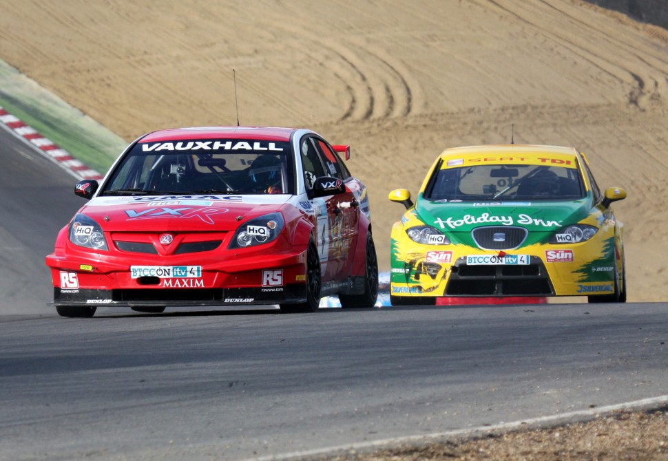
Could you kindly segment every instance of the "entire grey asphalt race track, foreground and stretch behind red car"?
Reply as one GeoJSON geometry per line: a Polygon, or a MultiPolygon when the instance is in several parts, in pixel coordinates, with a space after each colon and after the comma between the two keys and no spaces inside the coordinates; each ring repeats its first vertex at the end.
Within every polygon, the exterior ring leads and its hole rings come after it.
{"type": "Polygon", "coordinates": [[[664,403],[665,303],[100,308],[43,259],[74,178],[0,129],[0,460],[242,460],[664,403]]]}

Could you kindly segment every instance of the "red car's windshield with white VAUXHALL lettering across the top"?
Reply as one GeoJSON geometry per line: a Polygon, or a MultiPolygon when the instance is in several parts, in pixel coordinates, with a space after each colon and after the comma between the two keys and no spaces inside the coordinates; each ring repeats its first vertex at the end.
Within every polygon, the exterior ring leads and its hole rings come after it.
{"type": "Polygon", "coordinates": [[[101,195],[293,193],[289,142],[178,140],[136,144],[101,195]]]}

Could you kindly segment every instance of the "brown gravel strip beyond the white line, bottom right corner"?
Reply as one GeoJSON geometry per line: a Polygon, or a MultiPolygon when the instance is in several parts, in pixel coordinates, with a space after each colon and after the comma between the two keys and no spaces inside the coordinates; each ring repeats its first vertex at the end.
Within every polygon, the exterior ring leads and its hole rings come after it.
{"type": "Polygon", "coordinates": [[[377,451],[351,450],[311,461],[668,460],[668,406],[614,411],[543,429],[491,430],[483,436],[377,451]]]}

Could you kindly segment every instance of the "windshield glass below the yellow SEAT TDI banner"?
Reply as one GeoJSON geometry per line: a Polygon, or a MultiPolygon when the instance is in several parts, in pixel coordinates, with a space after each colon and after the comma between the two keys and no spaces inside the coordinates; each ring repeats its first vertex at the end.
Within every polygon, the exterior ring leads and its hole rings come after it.
{"type": "Polygon", "coordinates": [[[578,169],[527,164],[438,169],[424,197],[452,200],[578,200],[585,195],[578,169]]]}

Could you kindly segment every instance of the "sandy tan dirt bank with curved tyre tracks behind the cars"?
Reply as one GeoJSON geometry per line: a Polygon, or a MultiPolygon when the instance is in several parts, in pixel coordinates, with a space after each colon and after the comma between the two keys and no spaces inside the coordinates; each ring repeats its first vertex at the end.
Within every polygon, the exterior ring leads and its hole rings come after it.
{"type": "Polygon", "coordinates": [[[622,186],[629,301],[667,299],[668,33],[577,0],[2,2],[0,58],[130,141],[306,126],[353,147],[382,270],[445,147],[572,145],[622,186]],[[317,5],[317,6],[315,6],[317,5]]]}

